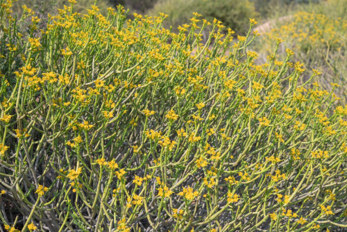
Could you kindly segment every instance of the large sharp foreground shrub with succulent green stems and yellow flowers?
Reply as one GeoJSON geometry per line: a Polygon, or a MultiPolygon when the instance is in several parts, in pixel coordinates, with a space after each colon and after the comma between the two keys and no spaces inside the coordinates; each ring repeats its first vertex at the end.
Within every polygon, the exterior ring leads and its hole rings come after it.
{"type": "MultiPolygon", "coordinates": [[[[0,0],[0,220],[7,231],[347,227],[347,105],[194,13],[0,0]],[[206,44],[201,32],[211,24],[206,44]]],[[[277,41],[277,47],[281,41],[277,41]]]]}

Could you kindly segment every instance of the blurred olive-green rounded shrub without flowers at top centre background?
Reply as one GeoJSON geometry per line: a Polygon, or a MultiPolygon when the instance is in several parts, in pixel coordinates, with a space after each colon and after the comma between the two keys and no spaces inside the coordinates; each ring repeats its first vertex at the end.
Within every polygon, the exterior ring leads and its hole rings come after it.
{"type": "Polygon", "coordinates": [[[237,33],[244,34],[248,29],[248,17],[254,18],[257,14],[254,6],[248,0],[163,0],[158,1],[150,15],[158,15],[159,12],[168,14],[167,27],[174,29],[187,23],[193,12],[198,12],[209,21],[217,18],[237,33]]]}

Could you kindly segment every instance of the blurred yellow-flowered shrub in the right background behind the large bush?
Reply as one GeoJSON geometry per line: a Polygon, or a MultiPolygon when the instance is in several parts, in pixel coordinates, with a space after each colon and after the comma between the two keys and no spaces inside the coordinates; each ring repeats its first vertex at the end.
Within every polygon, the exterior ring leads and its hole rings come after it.
{"type": "MultiPolygon", "coordinates": [[[[271,54],[272,44],[278,38],[284,40],[279,54],[285,56],[285,48],[290,48],[296,54],[296,61],[303,62],[309,69],[324,71],[320,82],[325,88],[330,82],[347,83],[347,18],[334,19],[327,12],[299,11],[265,33],[259,46],[271,54]]],[[[346,89],[341,90],[341,96],[347,97],[346,89]]]]}

